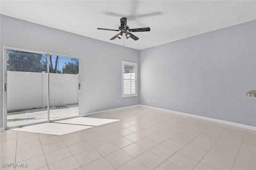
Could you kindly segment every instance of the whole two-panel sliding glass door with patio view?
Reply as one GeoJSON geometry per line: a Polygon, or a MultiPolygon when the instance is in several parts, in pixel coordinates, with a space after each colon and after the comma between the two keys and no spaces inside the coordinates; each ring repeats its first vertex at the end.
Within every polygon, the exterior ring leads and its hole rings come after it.
{"type": "Polygon", "coordinates": [[[6,128],[79,116],[79,59],[8,48],[6,128]]]}

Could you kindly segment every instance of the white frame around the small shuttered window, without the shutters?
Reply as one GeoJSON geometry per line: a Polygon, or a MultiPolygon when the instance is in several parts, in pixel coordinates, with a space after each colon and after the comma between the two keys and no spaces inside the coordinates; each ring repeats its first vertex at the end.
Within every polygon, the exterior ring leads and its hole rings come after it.
{"type": "Polygon", "coordinates": [[[138,64],[128,61],[122,61],[122,98],[138,96],[138,64]],[[136,93],[124,94],[124,65],[134,66],[136,68],[136,93]]]}

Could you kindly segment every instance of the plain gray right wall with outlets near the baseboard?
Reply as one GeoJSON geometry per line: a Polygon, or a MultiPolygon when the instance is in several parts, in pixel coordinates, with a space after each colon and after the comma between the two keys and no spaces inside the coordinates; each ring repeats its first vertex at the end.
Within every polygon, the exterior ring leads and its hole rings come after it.
{"type": "Polygon", "coordinates": [[[141,50],[140,89],[142,105],[255,127],[256,20],[141,50]]]}

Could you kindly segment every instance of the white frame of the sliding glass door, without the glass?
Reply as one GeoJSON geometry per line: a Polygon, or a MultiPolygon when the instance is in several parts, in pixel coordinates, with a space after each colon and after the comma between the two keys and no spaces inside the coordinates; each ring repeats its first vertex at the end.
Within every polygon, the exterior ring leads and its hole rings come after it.
{"type": "Polygon", "coordinates": [[[60,121],[60,120],[64,120],[64,119],[70,119],[70,118],[74,118],[74,117],[68,117],[68,118],[63,118],[63,119],[58,119],[58,120],[52,120],[50,121],[50,66],[49,66],[49,62],[50,62],[50,55],[58,55],[58,56],[62,56],[62,57],[70,57],[70,58],[76,58],[79,59],[79,74],[78,74],[78,116],[75,117],[81,117],[81,111],[82,111],[82,107],[81,107],[81,89],[80,89],[80,82],[81,82],[81,57],[74,57],[74,56],[70,56],[70,55],[62,55],[62,54],[56,54],[56,53],[46,53],[46,52],[41,52],[41,51],[34,51],[34,50],[28,50],[28,49],[20,49],[20,48],[14,48],[14,47],[3,47],[3,122],[4,122],[4,129],[10,129],[10,128],[18,128],[18,127],[25,127],[25,126],[29,126],[29,125],[36,125],[36,124],[40,124],[40,123],[47,123],[47,122],[54,122],[54,121],[60,121]],[[39,123],[30,123],[30,124],[26,124],[26,125],[18,125],[18,126],[14,126],[14,127],[7,127],[7,93],[8,93],[8,89],[7,89],[7,50],[16,50],[16,51],[22,51],[22,52],[29,52],[29,53],[38,53],[38,54],[45,54],[47,55],[47,117],[48,120],[47,121],[43,121],[43,122],[39,122],[39,123]],[[6,88],[5,88],[6,85],[6,88]]]}

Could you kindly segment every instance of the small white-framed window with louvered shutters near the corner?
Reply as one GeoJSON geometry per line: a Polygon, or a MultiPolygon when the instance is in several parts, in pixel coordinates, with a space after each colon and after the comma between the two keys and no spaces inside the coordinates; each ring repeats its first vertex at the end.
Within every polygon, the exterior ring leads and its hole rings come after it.
{"type": "Polygon", "coordinates": [[[137,96],[137,63],[122,61],[122,97],[137,96]]]}

